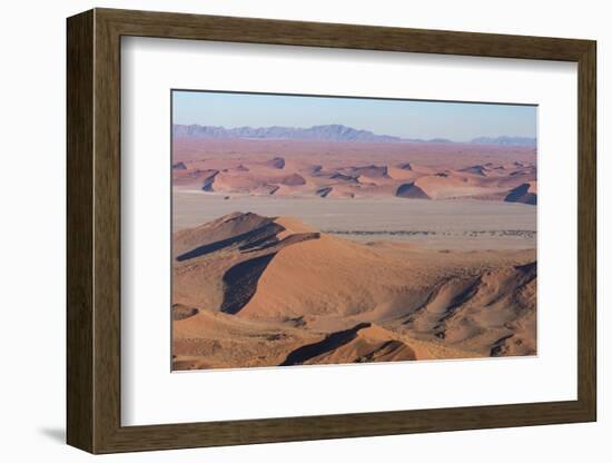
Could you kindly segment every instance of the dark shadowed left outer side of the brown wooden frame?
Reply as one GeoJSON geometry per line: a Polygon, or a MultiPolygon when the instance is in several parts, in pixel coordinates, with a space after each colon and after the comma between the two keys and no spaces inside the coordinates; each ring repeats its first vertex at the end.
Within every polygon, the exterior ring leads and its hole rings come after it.
{"type": "Polygon", "coordinates": [[[93,29],[92,10],[67,20],[67,432],[93,452],[93,29]]]}

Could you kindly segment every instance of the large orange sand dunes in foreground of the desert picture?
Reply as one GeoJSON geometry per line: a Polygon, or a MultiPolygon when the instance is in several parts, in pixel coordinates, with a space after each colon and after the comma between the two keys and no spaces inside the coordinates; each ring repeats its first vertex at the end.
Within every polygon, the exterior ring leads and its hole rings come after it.
{"type": "Polygon", "coordinates": [[[234,213],[174,235],[177,370],[530,355],[533,249],[427,252],[234,213]]]}

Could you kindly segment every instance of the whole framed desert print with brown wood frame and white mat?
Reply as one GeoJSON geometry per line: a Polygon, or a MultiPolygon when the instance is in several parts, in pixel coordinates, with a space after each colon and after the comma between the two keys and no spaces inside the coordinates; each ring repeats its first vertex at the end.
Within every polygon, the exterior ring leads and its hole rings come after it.
{"type": "Polygon", "coordinates": [[[92,452],[594,421],[595,42],[68,19],[92,452]]]}

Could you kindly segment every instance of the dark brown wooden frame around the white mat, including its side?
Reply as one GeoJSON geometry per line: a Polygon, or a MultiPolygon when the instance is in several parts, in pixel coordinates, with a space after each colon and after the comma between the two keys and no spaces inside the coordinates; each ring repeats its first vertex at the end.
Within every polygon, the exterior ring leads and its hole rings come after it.
{"type": "Polygon", "coordinates": [[[68,19],[67,441],[92,453],[590,422],[595,371],[595,42],[95,9],[68,19]],[[120,423],[120,38],[573,61],[579,72],[578,400],[211,423],[120,423]]]}

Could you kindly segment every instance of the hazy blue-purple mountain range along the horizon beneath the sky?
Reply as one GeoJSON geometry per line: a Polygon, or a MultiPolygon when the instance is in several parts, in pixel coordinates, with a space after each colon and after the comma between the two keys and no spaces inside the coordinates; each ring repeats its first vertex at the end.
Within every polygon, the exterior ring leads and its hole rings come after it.
{"type": "MultiPolygon", "coordinates": [[[[227,129],[225,127],[199,126],[199,125],[178,125],[172,127],[175,137],[195,137],[195,138],[250,138],[250,139],[289,139],[289,140],[322,140],[322,141],[385,141],[385,142],[437,142],[453,144],[455,141],[446,138],[414,139],[401,138],[391,135],[377,135],[369,130],[358,130],[339,124],[325,126],[314,126],[310,128],[299,127],[236,127],[227,129]]],[[[500,145],[500,146],[535,146],[535,138],[527,137],[478,137],[468,141],[478,145],[500,145]]]]}

